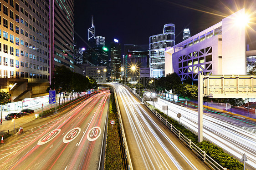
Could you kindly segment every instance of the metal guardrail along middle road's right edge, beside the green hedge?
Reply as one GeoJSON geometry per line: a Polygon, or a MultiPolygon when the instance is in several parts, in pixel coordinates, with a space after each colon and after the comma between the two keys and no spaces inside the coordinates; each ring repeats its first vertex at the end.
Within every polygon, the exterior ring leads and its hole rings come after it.
{"type": "Polygon", "coordinates": [[[193,152],[198,155],[206,164],[208,164],[212,169],[215,170],[227,170],[226,168],[222,167],[220,164],[218,164],[215,160],[213,160],[209,155],[205,153],[205,151],[201,150],[197,145],[195,145],[193,142],[191,142],[190,139],[188,139],[185,135],[180,133],[179,130],[177,130],[172,124],[167,121],[162,115],[160,115],[156,110],[152,108],[151,105],[149,105],[147,102],[143,102],[143,99],[136,94],[130,87],[127,85],[121,84],[125,86],[130,92],[132,92],[138,100],[142,101],[142,103],[153,112],[153,114],[171,131],[173,132],[177,137],[179,137],[179,140],[183,141],[185,145],[189,147],[189,149],[193,150],[193,152]]]}

